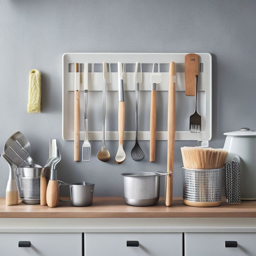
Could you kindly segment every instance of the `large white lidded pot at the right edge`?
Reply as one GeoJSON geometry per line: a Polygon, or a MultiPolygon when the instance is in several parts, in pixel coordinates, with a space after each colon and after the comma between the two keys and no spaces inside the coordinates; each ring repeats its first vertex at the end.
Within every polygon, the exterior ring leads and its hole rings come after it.
{"type": "Polygon", "coordinates": [[[226,162],[240,159],[241,200],[256,200],[256,131],[242,128],[240,131],[225,132],[226,162]]]}

